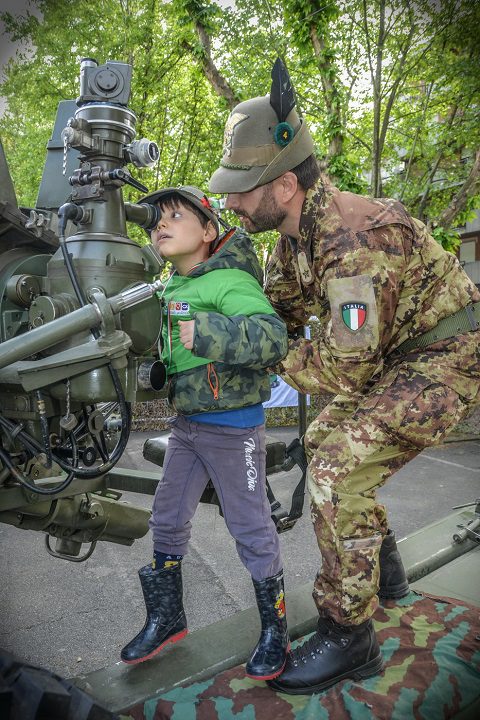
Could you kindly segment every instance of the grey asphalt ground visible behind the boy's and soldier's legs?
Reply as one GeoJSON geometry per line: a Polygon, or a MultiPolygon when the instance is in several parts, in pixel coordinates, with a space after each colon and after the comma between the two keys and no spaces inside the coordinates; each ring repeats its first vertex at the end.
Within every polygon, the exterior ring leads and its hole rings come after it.
{"type": "MultiPolygon", "coordinates": [[[[295,429],[269,430],[289,440],[295,429]]],[[[134,433],[121,465],[145,463],[141,448],[154,433],[134,433]]],[[[271,476],[274,492],[288,504],[299,472],[271,476]]],[[[480,495],[480,441],[450,442],[422,453],[380,492],[390,524],[403,537],[452,506],[480,495]]],[[[151,498],[123,499],[149,507],[151,498]]],[[[43,535],[0,525],[0,646],[25,661],[64,676],[88,673],[118,660],[126,641],[141,628],[144,609],[136,576],[151,557],[149,536],[132,547],[98,543],[85,563],[51,558],[43,535]]],[[[318,550],[308,508],[295,528],[281,536],[287,588],[311,580],[318,550]]],[[[185,605],[194,630],[254,604],[248,573],[216,508],[201,505],[190,554],[184,561],[185,605]]]]}

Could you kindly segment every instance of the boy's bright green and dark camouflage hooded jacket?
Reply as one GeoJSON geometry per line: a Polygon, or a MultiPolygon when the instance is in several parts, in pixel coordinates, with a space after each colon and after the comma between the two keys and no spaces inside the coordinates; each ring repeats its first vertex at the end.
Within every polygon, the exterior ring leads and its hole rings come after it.
{"type": "Polygon", "coordinates": [[[181,414],[246,407],[268,400],[266,368],[287,352],[287,329],[265,297],[263,273],[248,235],[235,230],[188,275],[171,276],[163,293],[168,399],[181,414]],[[179,340],[179,320],[195,320],[193,350],[179,340]]]}

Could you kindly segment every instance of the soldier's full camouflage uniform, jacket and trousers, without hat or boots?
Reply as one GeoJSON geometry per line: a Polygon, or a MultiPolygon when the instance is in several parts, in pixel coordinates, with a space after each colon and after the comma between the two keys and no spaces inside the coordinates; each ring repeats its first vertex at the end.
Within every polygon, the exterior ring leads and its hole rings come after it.
{"type": "Polygon", "coordinates": [[[480,293],[393,200],[320,182],[307,192],[300,239],[282,236],[266,293],[290,331],[314,315],[323,335],[290,344],[280,372],[302,392],[335,393],[305,436],[322,565],[314,597],[340,624],[371,617],[387,532],[376,489],[440,442],[478,401],[480,332],[404,352],[480,293]]]}

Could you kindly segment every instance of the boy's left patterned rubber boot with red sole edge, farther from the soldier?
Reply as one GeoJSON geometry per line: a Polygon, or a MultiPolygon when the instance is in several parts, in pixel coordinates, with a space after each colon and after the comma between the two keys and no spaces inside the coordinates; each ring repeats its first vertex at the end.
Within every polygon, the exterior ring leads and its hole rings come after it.
{"type": "Polygon", "coordinates": [[[138,571],[147,619],[142,630],[125,645],[123,662],[135,664],[150,660],[167,643],[175,643],[187,634],[182,604],[182,566],[153,570],[145,565],[138,571]]]}

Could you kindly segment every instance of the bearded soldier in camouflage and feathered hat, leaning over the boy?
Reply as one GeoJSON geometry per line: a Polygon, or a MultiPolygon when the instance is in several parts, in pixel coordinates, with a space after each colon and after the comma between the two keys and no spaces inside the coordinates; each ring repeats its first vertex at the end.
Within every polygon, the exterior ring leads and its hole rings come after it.
{"type": "Polygon", "coordinates": [[[304,438],[318,629],[269,683],[303,694],[382,670],[371,618],[408,583],[376,489],[478,401],[480,293],[401,203],[323,181],[283,80],[231,112],[210,190],[248,232],[281,233],[265,285],[291,337],[278,371],[336,395],[304,438]],[[318,340],[299,332],[311,316],[318,340]]]}

